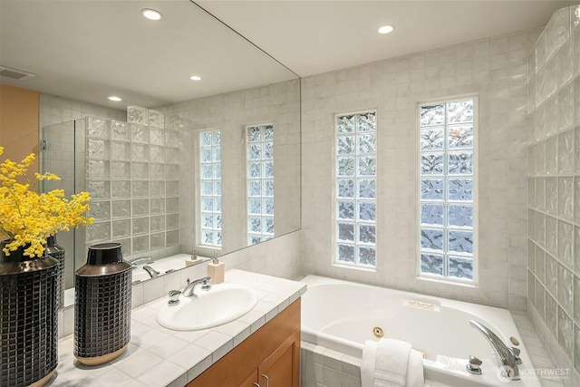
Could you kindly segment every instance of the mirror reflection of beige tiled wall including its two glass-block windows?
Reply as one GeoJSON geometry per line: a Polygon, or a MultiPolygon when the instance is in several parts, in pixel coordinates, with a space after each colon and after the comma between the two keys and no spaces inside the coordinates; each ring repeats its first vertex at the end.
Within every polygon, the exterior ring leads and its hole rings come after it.
{"type": "Polygon", "coordinates": [[[186,251],[222,255],[300,227],[298,80],[193,100],[167,111],[195,129],[180,138],[186,150],[180,198],[195,206],[185,214],[180,210],[182,236],[195,236],[182,241],[186,251]],[[262,130],[258,141],[248,136],[252,129],[262,130]]]}

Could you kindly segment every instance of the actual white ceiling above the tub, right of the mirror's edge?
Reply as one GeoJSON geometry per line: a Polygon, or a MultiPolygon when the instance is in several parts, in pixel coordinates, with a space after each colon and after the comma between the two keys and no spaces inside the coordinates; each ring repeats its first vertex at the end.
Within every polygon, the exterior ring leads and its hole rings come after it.
{"type": "Polygon", "coordinates": [[[570,1],[196,1],[300,76],[546,25],[570,1]],[[391,34],[377,29],[391,24],[391,34]]]}

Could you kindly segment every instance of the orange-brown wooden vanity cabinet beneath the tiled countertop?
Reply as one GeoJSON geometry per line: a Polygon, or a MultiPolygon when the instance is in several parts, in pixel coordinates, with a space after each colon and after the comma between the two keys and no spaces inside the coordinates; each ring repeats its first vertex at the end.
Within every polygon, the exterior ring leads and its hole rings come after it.
{"type": "Polygon", "coordinates": [[[188,387],[298,387],[300,299],[189,382],[188,387]]]}

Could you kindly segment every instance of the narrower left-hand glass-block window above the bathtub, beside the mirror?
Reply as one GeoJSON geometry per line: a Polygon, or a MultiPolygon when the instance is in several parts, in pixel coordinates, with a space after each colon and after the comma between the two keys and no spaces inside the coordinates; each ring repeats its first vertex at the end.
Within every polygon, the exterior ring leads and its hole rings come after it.
{"type": "Polygon", "coordinates": [[[376,111],[335,120],[334,263],[376,266],[376,111]]]}

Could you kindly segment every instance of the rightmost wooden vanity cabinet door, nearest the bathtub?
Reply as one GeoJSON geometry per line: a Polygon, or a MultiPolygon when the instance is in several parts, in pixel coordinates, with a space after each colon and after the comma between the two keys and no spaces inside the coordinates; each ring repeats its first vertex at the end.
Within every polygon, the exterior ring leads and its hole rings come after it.
{"type": "Polygon", "coordinates": [[[261,387],[298,387],[300,384],[300,331],[296,331],[258,367],[261,387]]]}

